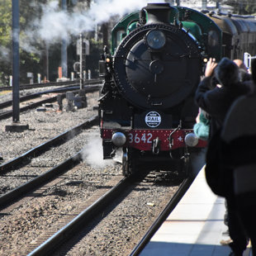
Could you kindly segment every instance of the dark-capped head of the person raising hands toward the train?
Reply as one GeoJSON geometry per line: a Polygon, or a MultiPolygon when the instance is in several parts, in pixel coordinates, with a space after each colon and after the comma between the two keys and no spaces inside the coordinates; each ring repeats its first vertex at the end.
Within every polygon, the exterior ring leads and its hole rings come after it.
{"type": "Polygon", "coordinates": [[[224,57],[216,66],[215,75],[222,86],[229,87],[239,82],[239,67],[232,60],[224,57]]]}

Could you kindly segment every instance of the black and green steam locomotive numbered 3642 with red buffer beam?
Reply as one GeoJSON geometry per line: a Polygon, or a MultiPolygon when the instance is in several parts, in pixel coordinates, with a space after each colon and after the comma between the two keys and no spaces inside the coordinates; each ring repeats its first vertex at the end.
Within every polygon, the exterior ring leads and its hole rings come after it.
{"type": "Polygon", "coordinates": [[[103,158],[122,149],[125,176],[141,167],[164,168],[183,177],[206,141],[192,127],[194,93],[207,59],[256,54],[253,18],[202,13],[168,3],[149,3],[124,17],[104,48],[99,99],[103,158]]]}

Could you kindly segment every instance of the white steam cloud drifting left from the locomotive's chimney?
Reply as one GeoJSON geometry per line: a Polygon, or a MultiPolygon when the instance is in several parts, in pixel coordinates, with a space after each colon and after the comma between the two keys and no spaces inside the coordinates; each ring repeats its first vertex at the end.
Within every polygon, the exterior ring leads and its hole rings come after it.
{"type": "MultiPolygon", "coordinates": [[[[59,40],[69,41],[70,36],[93,31],[97,24],[108,21],[110,17],[123,16],[128,12],[140,10],[148,2],[152,2],[152,0],[97,0],[91,3],[88,10],[86,7],[84,10],[73,8],[72,12],[67,12],[59,8],[59,1],[50,1],[42,6],[42,17],[36,19],[26,30],[26,37],[22,40],[21,47],[34,52],[35,49],[29,49],[29,42],[38,39],[45,40],[46,44],[59,40]]],[[[164,2],[164,0],[158,2],[164,2]]]]}

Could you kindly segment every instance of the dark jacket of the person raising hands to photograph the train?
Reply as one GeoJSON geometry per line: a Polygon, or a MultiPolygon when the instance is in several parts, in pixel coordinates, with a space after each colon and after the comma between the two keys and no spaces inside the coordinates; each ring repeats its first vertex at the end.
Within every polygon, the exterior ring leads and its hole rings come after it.
{"type": "Polygon", "coordinates": [[[195,96],[198,107],[211,116],[210,138],[223,125],[225,115],[236,98],[251,92],[244,83],[234,83],[229,87],[212,88],[211,78],[201,80],[195,96]]]}

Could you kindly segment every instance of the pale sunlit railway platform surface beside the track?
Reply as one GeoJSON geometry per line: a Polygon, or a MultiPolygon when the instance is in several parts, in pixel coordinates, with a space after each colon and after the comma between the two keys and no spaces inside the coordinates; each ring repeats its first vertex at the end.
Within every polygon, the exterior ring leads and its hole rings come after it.
{"type": "MultiPolygon", "coordinates": [[[[140,256],[228,256],[225,200],[211,192],[204,168],[140,256]]],[[[244,256],[252,256],[250,246],[244,256]]]]}

